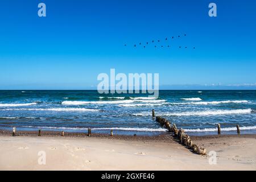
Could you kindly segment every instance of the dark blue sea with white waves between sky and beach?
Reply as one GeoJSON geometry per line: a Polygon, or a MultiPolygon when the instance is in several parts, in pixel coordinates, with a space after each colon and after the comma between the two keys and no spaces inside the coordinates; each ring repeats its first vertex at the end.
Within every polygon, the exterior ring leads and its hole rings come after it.
{"type": "Polygon", "coordinates": [[[256,133],[256,90],[160,90],[99,94],[97,90],[0,90],[0,128],[155,135],[166,130],[151,117],[167,118],[193,135],[256,133]]]}

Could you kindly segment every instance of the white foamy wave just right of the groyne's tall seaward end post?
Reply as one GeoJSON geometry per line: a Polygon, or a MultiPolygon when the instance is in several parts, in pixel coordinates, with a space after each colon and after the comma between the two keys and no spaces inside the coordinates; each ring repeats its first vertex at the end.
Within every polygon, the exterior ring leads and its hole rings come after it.
{"type": "Polygon", "coordinates": [[[208,111],[188,111],[183,113],[163,113],[163,115],[225,115],[225,114],[247,114],[251,113],[251,109],[236,109],[236,110],[208,110],[208,111]]]}

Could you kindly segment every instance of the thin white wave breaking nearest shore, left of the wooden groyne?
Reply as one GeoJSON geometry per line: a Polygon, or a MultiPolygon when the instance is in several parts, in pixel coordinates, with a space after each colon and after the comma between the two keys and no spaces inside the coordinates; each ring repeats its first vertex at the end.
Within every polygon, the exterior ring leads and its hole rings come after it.
{"type": "MultiPolygon", "coordinates": [[[[55,127],[55,126],[19,126],[19,127],[28,127],[28,128],[40,128],[40,129],[57,129],[57,130],[88,130],[88,127],[55,127]]],[[[152,129],[146,127],[98,127],[91,128],[91,130],[122,130],[122,131],[167,131],[163,128],[152,129]]]]}

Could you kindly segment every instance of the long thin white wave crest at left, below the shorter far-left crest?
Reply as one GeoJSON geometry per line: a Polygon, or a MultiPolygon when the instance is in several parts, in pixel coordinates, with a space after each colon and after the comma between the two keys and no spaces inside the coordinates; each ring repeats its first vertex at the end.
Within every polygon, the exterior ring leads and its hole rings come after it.
{"type": "Polygon", "coordinates": [[[32,111],[100,111],[98,109],[86,109],[86,108],[20,108],[20,109],[3,109],[3,110],[32,110],[32,111]]]}

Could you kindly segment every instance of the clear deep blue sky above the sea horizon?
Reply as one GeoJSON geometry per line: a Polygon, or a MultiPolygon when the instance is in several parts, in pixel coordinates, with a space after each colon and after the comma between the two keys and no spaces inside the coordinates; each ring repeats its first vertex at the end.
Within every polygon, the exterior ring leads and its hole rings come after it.
{"type": "Polygon", "coordinates": [[[94,89],[110,68],[159,73],[165,89],[255,89],[255,9],[251,0],[1,0],[0,89],[94,89]]]}

